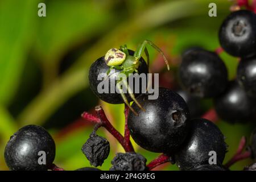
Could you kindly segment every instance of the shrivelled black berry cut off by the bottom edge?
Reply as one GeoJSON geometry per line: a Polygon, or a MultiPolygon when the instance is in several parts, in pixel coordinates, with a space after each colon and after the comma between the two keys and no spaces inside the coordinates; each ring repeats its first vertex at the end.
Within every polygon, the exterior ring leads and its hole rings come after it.
{"type": "Polygon", "coordinates": [[[117,153],[110,171],[145,171],[147,159],[135,152],[117,153]]]}

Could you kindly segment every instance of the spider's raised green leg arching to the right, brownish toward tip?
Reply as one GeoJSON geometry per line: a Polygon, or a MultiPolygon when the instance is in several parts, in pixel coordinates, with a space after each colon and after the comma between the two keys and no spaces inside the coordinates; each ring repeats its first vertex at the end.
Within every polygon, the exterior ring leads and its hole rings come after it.
{"type": "Polygon", "coordinates": [[[146,49],[147,44],[149,44],[150,46],[152,46],[154,49],[156,49],[156,51],[158,51],[162,56],[164,61],[166,62],[167,65],[167,69],[170,70],[170,65],[168,63],[168,60],[166,58],[166,56],[164,56],[163,51],[156,46],[154,43],[152,43],[150,40],[144,40],[141,45],[136,49],[136,51],[134,52],[134,57],[136,57],[136,59],[141,59],[142,56],[142,52],[145,51],[146,55],[148,54],[148,51],[146,49]]]}

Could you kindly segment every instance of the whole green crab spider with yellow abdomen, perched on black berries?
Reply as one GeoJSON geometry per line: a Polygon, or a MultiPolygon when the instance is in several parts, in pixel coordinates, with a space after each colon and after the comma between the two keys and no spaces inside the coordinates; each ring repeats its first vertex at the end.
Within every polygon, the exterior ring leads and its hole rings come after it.
{"type": "MultiPolygon", "coordinates": [[[[170,66],[168,64],[166,56],[164,56],[163,51],[159,47],[157,47],[154,43],[152,43],[150,40],[144,40],[139,45],[139,47],[136,49],[133,56],[129,55],[126,45],[120,46],[120,49],[117,49],[117,48],[109,49],[109,51],[106,53],[106,55],[104,57],[105,63],[110,67],[107,72],[107,75],[109,75],[111,69],[114,69],[114,68],[121,70],[121,72],[119,72],[117,77],[119,77],[121,75],[121,73],[125,74],[126,77],[129,77],[130,73],[138,72],[139,65],[141,64],[139,59],[141,59],[143,52],[145,53],[145,55],[147,57],[147,65],[148,65],[149,64],[149,53],[146,48],[147,44],[152,46],[154,49],[156,49],[156,51],[158,51],[163,56],[163,59],[167,65],[167,69],[170,70],[170,66]]],[[[124,85],[126,87],[131,99],[135,102],[135,104],[137,104],[138,107],[140,109],[142,109],[143,111],[146,111],[141,106],[141,104],[139,104],[139,102],[136,100],[130,86],[127,83],[127,80],[126,79],[118,80],[117,88],[119,90],[119,93],[121,94],[123,101],[130,108],[130,110],[133,111],[133,113],[135,115],[138,115],[138,113],[133,109],[133,107],[130,106],[129,102],[127,101],[125,93],[123,92],[123,89],[122,89],[122,85],[124,85]]]]}

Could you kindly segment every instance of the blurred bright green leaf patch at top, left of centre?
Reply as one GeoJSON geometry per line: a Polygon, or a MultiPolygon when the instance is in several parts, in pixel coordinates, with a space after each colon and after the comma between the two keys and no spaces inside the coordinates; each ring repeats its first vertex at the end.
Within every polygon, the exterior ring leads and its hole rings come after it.
{"type": "Polygon", "coordinates": [[[57,61],[76,44],[110,26],[111,11],[94,1],[48,1],[46,17],[38,18],[36,52],[41,61],[57,61]]]}

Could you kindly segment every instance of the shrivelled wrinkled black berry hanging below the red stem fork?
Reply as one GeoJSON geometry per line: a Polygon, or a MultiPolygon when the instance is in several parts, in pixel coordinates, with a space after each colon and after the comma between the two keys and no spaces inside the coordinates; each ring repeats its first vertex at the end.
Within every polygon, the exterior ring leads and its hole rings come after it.
{"type": "Polygon", "coordinates": [[[82,146],[82,153],[90,161],[92,166],[101,166],[109,156],[109,142],[104,137],[96,135],[94,132],[82,146]]]}

